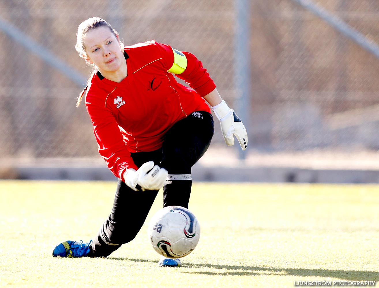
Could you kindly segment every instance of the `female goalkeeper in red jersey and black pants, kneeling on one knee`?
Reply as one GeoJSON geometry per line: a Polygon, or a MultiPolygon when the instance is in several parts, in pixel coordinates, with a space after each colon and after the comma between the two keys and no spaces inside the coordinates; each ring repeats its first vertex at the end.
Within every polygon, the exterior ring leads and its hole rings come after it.
{"type": "MultiPolygon", "coordinates": [[[[94,66],[77,106],[84,97],[99,153],[119,180],[97,237],[88,243],[64,241],[53,256],[107,257],[135,238],[162,187],[163,207],[188,208],[191,167],[214,132],[204,99],[221,121],[227,145],[235,135],[246,149],[247,134],[193,54],[154,40],[124,47],[116,30],[99,17],[79,25],[75,48],[94,66]],[[177,83],[173,74],[193,89],[177,83]]],[[[180,266],[180,261],[162,257],[159,265],[180,266]]]]}

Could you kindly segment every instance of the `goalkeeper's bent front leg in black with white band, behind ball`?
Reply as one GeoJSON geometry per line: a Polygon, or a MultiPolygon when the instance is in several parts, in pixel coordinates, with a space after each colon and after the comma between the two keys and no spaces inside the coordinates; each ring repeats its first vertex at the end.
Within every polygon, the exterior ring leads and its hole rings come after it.
{"type": "Polygon", "coordinates": [[[213,117],[205,111],[194,112],[169,129],[162,148],[161,167],[169,173],[163,187],[163,207],[179,205],[188,208],[191,167],[207,151],[213,133],[213,117]]]}

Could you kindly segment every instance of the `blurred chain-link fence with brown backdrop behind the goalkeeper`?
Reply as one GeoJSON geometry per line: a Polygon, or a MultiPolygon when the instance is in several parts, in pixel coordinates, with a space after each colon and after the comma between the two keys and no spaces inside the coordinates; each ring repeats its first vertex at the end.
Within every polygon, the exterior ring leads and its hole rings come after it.
{"type": "MultiPolygon", "coordinates": [[[[313,3],[368,43],[379,43],[377,0],[313,3]]],[[[0,1],[0,165],[25,159],[100,159],[85,107],[75,107],[91,72],[74,49],[76,32],[83,20],[93,16],[110,22],[125,45],[155,39],[195,54],[229,106],[237,114],[249,115],[244,121],[249,134],[246,155],[376,153],[377,56],[299,1],[250,0],[251,90],[248,105],[243,105],[236,92],[235,4],[233,0],[0,1]],[[25,35],[24,43],[10,37],[6,27],[25,35]],[[42,60],[29,39],[47,51],[39,52],[52,53],[56,61],[78,73],[77,81],[42,60]]],[[[229,149],[215,124],[210,151],[229,149]]]]}

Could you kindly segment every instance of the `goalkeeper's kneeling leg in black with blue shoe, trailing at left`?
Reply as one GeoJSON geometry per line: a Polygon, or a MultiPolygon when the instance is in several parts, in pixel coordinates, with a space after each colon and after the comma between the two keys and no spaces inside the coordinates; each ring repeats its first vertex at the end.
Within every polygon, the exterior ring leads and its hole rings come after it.
{"type": "MultiPolygon", "coordinates": [[[[162,151],[132,153],[137,167],[153,160],[159,165],[162,151]]],[[[89,243],[65,241],[58,244],[53,256],[61,257],[107,257],[132,241],[141,229],[158,191],[134,191],[121,180],[117,183],[113,207],[96,238],[89,243]]]]}

